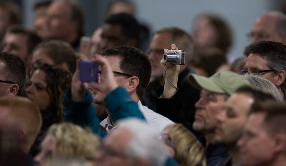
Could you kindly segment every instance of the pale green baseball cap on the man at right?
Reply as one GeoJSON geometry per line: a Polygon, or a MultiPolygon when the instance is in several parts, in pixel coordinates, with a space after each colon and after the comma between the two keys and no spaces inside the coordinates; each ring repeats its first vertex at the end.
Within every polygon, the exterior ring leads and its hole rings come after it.
{"type": "Polygon", "coordinates": [[[226,93],[232,95],[239,87],[250,86],[246,78],[232,71],[215,73],[210,77],[204,77],[189,73],[189,83],[197,89],[206,89],[215,93],[226,93]]]}

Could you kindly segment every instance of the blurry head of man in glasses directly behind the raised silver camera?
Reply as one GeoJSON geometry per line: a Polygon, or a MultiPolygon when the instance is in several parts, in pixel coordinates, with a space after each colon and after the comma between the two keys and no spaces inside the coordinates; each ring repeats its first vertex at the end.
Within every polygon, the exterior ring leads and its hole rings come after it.
{"type": "Polygon", "coordinates": [[[163,58],[164,49],[170,49],[171,44],[175,44],[179,50],[186,52],[186,64],[181,66],[180,71],[184,71],[188,67],[188,61],[194,51],[192,37],[179,27],[166,27],[154,33],[147,50],[152,65],[152,77],[162,77],[160,60],[163,58]]]}

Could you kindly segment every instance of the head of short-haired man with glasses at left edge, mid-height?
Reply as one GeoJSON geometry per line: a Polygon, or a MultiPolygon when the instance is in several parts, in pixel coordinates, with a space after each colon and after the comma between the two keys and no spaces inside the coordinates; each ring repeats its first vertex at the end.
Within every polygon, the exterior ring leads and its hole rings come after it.
{"type": "Polygon", "coordinates": [[[0,80],[0,96],[21,95],[26,80],[23,59],[12,53],[0,52],[0,80]]]}

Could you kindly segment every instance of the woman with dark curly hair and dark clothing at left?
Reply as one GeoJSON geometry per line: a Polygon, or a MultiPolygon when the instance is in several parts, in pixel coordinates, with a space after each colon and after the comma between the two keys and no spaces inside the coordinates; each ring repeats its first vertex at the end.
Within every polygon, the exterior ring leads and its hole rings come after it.
{"type": "Polygon", "coordinates": [[[40,109],[43,126],[31,149],[31,154],[39,152],[39,143],[53,123],[63,122],[63,94],[72,81],[72,74],[60,67],[42,64],[32,68],[25,86],[27,97],[40,109]]]}

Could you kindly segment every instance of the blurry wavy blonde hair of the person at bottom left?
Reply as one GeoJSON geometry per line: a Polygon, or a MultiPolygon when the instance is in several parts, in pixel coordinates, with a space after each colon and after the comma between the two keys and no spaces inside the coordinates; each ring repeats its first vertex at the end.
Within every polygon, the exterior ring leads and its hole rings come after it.
{"type": "Polygon", "coordinates": [[[99,138],[91,131],[73,123],[53,124],[49,127],[47,135],[52,135],[53,155],[74,156],[83,159],[93,159],[94,153],[100,146],[99,138]]]}

